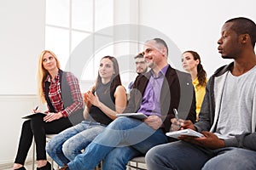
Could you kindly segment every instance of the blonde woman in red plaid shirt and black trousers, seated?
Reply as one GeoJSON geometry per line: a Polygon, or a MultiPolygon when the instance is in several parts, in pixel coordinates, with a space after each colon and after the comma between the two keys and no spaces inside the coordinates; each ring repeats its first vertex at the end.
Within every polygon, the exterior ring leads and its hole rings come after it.
{"type": "MultiPolygon", "coordinates": [[[[24,170],[24,163],[32,139],[35,139],[38,170],[49,170],[46,160],[45,134],[60,133],[83,117],[83,98],[79,80],[71,72],[61,71],[56,55],[44,50],[38,61],[38,94],[49,111],[46,116],[34,116],[23,122],[14,169],[24,170]]],[[[35,111],[35,114],[37,114],[35,111]]]]}

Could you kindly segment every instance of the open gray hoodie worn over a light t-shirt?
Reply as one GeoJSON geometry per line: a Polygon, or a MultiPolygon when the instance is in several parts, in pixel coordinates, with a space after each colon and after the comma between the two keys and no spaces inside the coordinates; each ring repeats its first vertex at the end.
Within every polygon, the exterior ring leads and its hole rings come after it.
{"type": "MultiPolygon", "coordinates": [[[[206,95],[201,105],[199,122],[195,123],[195,127],[198,132],[215,132],[224,81],[227,72],[230,71],[230,68],[232,68],[233,65],[234,63],[232,62],[230,65],[220,67],[207,82],[206,95]]],[[[253,103],[256,104],[256,97],[253,99],[253,103]]],[[[234,139],[225,139],[224,143],[226,147],[239,147],[248,150],[256,150],[256,105],[253,105],[252,111],[252,133],[236,135],[236,138],[234,139]]]]}

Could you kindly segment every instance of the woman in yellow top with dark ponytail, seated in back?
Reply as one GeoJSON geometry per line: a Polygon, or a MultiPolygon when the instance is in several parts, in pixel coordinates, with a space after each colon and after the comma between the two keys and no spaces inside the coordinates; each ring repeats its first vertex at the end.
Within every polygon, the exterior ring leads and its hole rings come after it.
{"type": "Polygon", "coordinates": [[[196,121],[198,121],[199,112],[201,110],[201,103],[206,94],[207,72],[201,65],[200,55],[195,51],[185,51],[183,53],[182,65],[183,69],[190,73],[193,81],[196,98],[196,121]]]}

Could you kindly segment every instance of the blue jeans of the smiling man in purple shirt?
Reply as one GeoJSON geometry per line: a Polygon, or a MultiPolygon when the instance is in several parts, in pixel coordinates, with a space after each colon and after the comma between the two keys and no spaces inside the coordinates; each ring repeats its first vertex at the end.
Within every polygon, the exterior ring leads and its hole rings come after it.
{"type": "Polygon", "coordinates": [[[131,158],[167,141],[161,129],[155,131],[137,119],[119,117],[67,165],[71,170],[91,170],[104,159],[104,170],[121,170],[131,158]]]}

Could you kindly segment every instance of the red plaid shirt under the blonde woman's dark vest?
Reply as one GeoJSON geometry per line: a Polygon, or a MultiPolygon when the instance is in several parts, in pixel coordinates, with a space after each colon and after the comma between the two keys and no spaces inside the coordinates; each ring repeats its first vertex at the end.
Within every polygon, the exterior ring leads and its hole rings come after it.
{"type": "MultiPolygon", "coordinates": [[[[83,108],[83,98],[79,88],[79,80],[74,77],[71,72],[67,72],[67,83],[71,90],[73,104],[64,108],[63,101],[61,99],[61,82],[59,73],[51,81],[48,76],[45,81],[50,82],[49,85],[49,99],[56,112],[61,112],[64,117],[70,116],[74,111],[78,111],[83,108]]],[[[49,108],[49,106],[48,106],[49,108]]]]}

